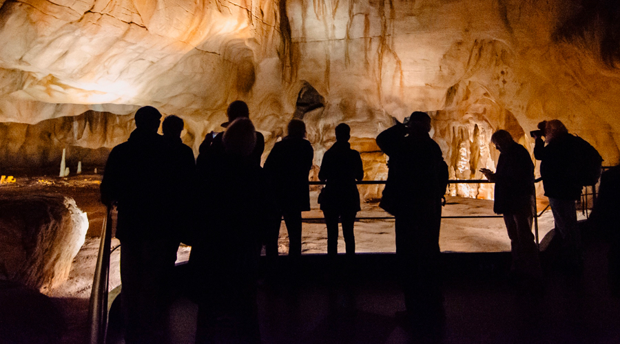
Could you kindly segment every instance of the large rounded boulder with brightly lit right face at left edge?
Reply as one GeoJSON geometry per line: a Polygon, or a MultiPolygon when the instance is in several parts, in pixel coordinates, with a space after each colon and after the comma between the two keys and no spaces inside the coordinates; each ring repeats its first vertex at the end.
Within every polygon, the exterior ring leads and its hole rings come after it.
{"type": "Polygon", "coordinates": [[[61,195],[0,195],[0,275],[41,292],[69,276],[88,219],[61,195]]]}

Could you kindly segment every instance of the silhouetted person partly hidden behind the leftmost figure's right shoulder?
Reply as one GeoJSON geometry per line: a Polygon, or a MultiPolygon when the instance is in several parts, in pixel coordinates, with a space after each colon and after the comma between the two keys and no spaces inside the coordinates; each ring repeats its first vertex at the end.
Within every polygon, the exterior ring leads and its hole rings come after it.
{"type": "Polygon", "coordinates": [[[172,182],[172,191],[169,195],[171,207],[167,211],[170,221],[171,235],[177,235],[178,241],[187,241],[188,233],[192,231],[194,217],[194,173],[196,159],[194,151],[183,144],[180,134],[185,123],[178,116],[170,115],[164,118],[161,124],[163,137],[170,147],[171,175],[167,175],[172,182]]]}

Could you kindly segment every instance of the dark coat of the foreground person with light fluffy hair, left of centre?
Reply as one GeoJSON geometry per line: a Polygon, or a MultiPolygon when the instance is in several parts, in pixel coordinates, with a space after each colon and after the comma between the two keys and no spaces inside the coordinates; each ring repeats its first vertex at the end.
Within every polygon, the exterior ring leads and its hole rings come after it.
{"type": "Polygon", "coordinates": [[[199,288],[234,292],[256,279],[261,239],[278,209],[254,160],[221,155],[204,172],[198,176],[202,225],[189,264],[199,288]]]}

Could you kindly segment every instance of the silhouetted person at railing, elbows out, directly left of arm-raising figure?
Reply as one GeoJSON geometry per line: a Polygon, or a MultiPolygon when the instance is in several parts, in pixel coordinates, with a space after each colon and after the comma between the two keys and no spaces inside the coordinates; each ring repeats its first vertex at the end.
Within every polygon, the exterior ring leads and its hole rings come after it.
{"type": "Polygon", "coordinates": [[[347,255],[355,254],[353,225],[360,208],[360,192],[355,180],[364,178],[360,153],[351,149],[351,128],[341,123],[335,127],[336,142],[325,152],[319,179],[325,182],[321,191],[321,210],[327,226],[327,255],[338,254],[338,218],[347,255]]]}

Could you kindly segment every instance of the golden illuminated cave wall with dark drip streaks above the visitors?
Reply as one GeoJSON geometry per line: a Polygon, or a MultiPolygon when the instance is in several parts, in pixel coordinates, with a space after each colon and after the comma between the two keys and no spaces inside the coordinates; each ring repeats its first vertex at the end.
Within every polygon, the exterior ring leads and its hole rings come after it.
{"type": "MultiPolygon", "coordinates": [[[[493,131],[508,129],[531,149],[528,131],[559,118],[617,164],[619,13],[612,0],[9,0],[0,9],[0,122],[154,105],[185,118],[184,141],[197,150],[221,130],[227,103],[242,99],[267,149],[303,118],[317,164],[335,125],[349,123],[366,178],[381,178],[385,158],[372,139],[423,110],[453,177],[479,178],[497,160],[493,131]]],[[[66,141],[110,148],[127,137],[126,121],[106,123],[88,136],[96,144],[79,132],[66,141]]],[[[59,130],[50,134],[73,135],[59,130]]],[[[3,147],[17,147],[9,141],[3,147]]]]}

